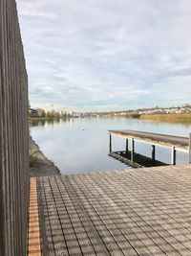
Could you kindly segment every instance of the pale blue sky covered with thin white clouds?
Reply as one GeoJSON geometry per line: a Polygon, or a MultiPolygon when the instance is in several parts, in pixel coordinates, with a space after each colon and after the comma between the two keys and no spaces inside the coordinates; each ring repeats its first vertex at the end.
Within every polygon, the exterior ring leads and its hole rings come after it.
{"type": "Polygon", "coordinates": [[[191,103],[190,0],[17,0],[32,107],[191,103]]]}

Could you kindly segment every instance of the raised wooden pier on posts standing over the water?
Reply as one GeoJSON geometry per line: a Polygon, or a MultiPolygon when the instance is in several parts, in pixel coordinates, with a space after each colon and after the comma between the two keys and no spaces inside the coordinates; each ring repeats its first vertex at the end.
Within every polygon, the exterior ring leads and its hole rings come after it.
{"type": "MultiPolygon", "coordinates": [[[[151,145],[151,157],[150,159],[153,160],[154,166],[156,165],[156,146],[171,148],[171,164],[176,164],[176,154],[177,151],[184,151],[188,152],[188,163],[191,163],[191,133],[189,137],[180,137],[180,136],[172,136],[167,134],[159,134],[159,133],[152,133],[152,132],[145,132],[145,131],[138,131],[138,130],[130,130],[130,129],[118,129],[118,130],[109,130],[110,135],[110,154],[111,156],[118,158],[120,160],[125,161],[125,157],[118,157],[117,152],[112,150],[112,136],[118,136],[125,138],[126,140],[126,155],[129,155],[127,159],[127,163],[129,163],[133,167],[141,166],[141,161],[137,163],[136,161],[136,146],[135,142],[142,142],[151,145]],[[130,141],[130,145],[129,145],[130,141]],[[130,151],[129,151],[130,148],[130,151]]],[[[122,151],[121,151],[122,152],[122,151]]],[[[144,158],[143,161],[144,162],[144,158]]],[[[159,162],[159,161],[158,161],[159,162]]],[[[144,165],[143,165],[144,166],[144,165]]]]}

